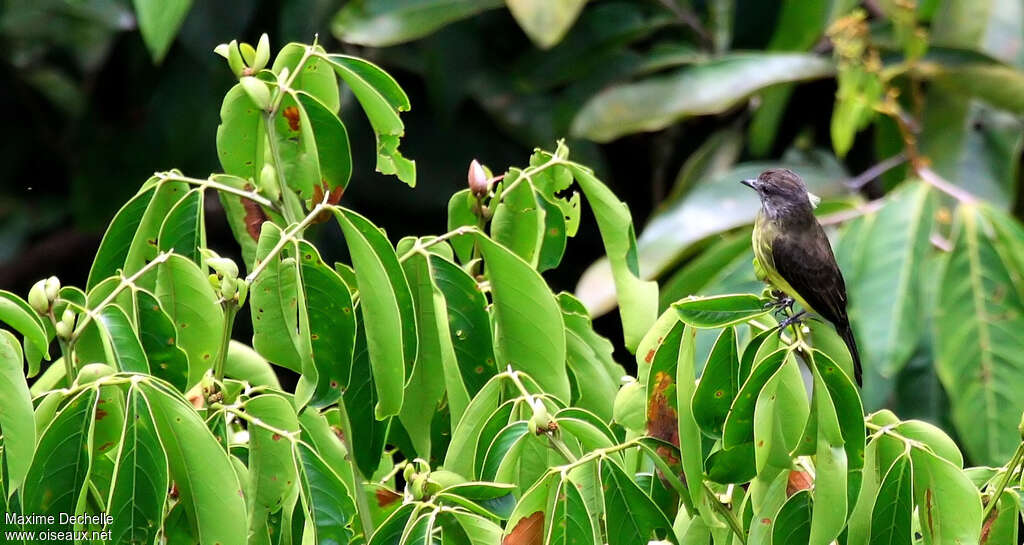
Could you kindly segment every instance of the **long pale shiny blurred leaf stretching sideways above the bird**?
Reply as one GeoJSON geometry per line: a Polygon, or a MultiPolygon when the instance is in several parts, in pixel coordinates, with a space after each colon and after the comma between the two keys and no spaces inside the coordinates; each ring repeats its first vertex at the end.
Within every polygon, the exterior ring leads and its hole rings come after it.
{"type": "Polygon", "coordinates": [[[609,87],[587,101],[572,134],[606,142],[654,131],[691,116],[721,114],[763,87],[831,76],[809,53],[729,53],[665,76],[609,87]]]}

